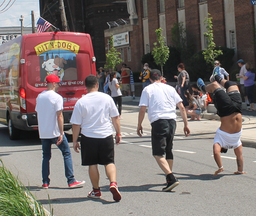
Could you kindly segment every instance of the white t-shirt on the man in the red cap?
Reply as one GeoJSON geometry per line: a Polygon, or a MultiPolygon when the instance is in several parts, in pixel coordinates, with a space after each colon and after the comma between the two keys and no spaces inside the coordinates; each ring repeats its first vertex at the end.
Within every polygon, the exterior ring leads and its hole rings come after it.
{"type": "Polygon", "coordinates": [[[37,112],[40,139],[51,139],[60,136],[57,111],[63,110],[63,98],[56,92],[44,91],[37,96],[37,112]]]}

